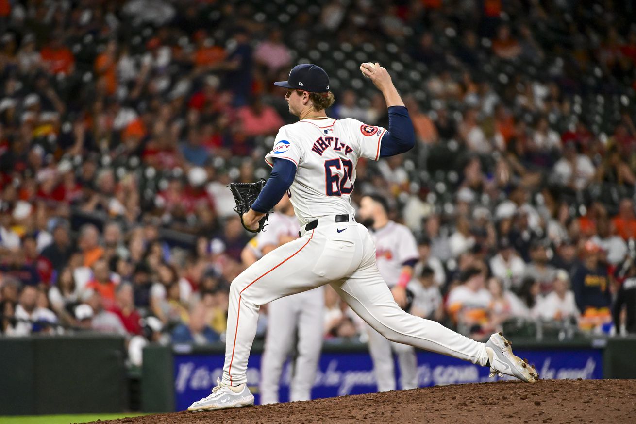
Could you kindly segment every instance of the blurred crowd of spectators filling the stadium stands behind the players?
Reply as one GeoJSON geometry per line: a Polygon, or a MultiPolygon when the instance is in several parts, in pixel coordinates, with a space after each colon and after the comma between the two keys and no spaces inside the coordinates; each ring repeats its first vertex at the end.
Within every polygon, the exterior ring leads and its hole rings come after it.
{"type": "Polygon", "coordinates": [[[272,81],[324,62],[328,115],[385,125],[347,71],[373,57],[418,144],[361,160],[353,199],[417,235],[425,316],[636,332],[633,2],[308,3],[0,0],[0,334],[218,341],[249,242],[224,187],[294,119],[272,81]]]}

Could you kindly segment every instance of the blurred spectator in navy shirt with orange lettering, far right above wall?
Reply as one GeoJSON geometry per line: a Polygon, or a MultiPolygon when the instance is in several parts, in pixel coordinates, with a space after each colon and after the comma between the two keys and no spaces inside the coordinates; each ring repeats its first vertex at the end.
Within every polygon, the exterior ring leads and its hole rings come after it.
{"type": "Polygon", "coordinates": [[[576,306],[583,314],[595,314],[598,309],[607,311],[610,305],[607,270],[598,261],[600,249],[592,241],[585,243],[583,262],[570,273],[576,306]]]}

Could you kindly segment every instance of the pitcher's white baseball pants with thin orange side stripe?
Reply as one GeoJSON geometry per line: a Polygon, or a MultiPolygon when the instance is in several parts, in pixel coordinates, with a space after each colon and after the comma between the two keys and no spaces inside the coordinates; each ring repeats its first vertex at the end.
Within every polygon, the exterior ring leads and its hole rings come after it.
{"type": "Polygon", "coordinates": [[[375,265],[375,245],[368,230],[352,217],[336,223],[334,216],[325,216],[317,228],[301,230],[299,239],[271,251],[232,281],[223,382],[247,381],[260,305],[327,283],[390,341],[473,364],[488,362],[484,343],[400,309],[375,265]]]}

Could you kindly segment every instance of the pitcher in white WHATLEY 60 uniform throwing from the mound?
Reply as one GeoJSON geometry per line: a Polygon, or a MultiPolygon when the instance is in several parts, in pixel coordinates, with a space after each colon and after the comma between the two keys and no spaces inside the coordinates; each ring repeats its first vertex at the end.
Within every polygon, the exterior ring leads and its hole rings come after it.
{"type": "Polygon", "coordinates": [[[280,128],[272,152],[265,157],[272,174],[251,207],[245,207],[244,199],[252,199],[253,191],[245,196],[233,192],[241,221],[251,231],[263,229],[268,212],[288,192],[300,237],[271,251],[232,281],[223,379],[189,411],[253,404],[246,373],[259,306],[326,284],[390,341],[488,366],[492,375],[508,374],[523,381],[538,378],[534,367],[516,357],[501,334],[479,343],[404,312],[393,299],[376,266],[373,239],[354,219],[350,195],[358,159],[404,153],[415,145],[415,136],[388,71],[370,63],[360,69],[384,95],[388,131],[352,118],[327,117],[333,94],[329,76],[319,66],[295,66],[287,81],[275,83],[287,88],[289,112],[299,120],[280,128]]]}

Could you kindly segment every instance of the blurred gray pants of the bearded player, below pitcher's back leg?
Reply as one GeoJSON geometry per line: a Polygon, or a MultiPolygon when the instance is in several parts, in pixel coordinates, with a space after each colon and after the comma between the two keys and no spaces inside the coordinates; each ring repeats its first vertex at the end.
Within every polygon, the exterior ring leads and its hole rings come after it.
{"type": "Polygon", "coordinates": [[[378,392],[390,392],[396,390],[396,373],[394,368],[393,352],[397,355],[399,365],[400,388],[416,388],[417,383],[417,356],[415,349],[408,344],[389,341],[372,327],[367,328],[369,335],[369,353],[373,360],[373,374],[378,383],[378,392]]]}

